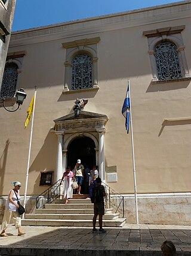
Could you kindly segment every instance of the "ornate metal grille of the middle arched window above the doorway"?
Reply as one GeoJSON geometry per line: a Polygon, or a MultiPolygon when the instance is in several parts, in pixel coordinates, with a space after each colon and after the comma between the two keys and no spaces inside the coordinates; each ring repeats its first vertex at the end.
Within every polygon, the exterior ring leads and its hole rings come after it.
{"type": "Polygon", "coordinates": [[[85,54],[72,60],[72,90],[92,88],[92,60],[85,54]]]}

